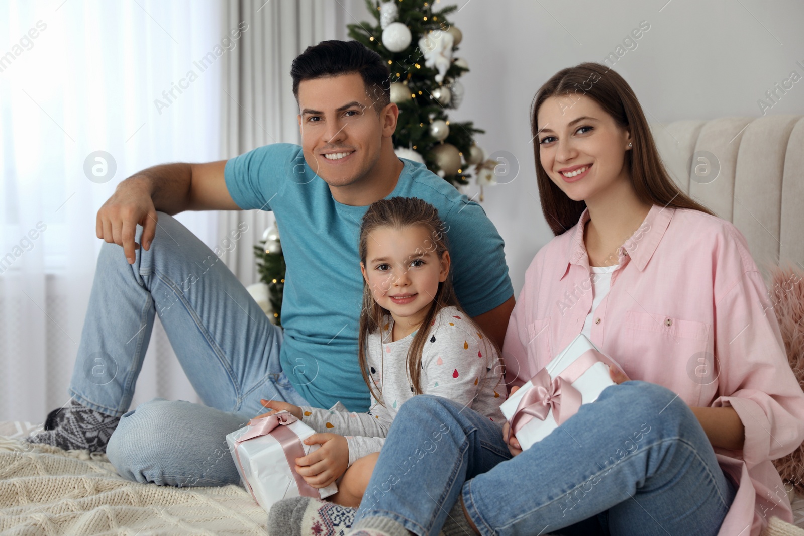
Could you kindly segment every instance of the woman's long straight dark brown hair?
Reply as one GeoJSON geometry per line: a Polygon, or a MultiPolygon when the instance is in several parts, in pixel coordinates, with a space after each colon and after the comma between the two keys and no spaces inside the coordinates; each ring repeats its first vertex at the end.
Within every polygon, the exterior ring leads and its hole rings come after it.
{"type": "Polygon", "coordinates": [[[552,96],[577,99],[581,95],[595,100],[618,126],[630,131],[633,147],[626,151],[626,166],[640,201],[662,207],[691,208],[713,215],[707,207],[679,190],[670,178],[659,157],[642,107],[626,80],[600,63],[580,63],[556,72],[539,88],[531,105],[531,134],[539,198],[544,218],[548,220],[554,235],[560,235],[578,223],[586,203],[574,201],[564,194],[542,167],[536,117],[544,101],[552,96]]]}

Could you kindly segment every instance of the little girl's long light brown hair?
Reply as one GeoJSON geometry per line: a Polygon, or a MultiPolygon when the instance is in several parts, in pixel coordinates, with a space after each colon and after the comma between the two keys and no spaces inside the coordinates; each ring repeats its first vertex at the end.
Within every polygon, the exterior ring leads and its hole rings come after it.
{"type": "MultiPolygon", "coordinates": [[[[381,199],[368,207],[368,211],[363,215],[363,222],[360,226],[360,242],[359,242],[359,255],[360,262],[368,270],[367,256],[368,256],[368,239],[371,232],[383,228],[392,227],[394,229],[404,229],[409,227],[422,227],[429,235],[429,243],[423,244],[429,251],[434,251],[439,260],[444,256],[445,252],[449,251],[449,243],[445,232],[444,224],[438,218],[438,211],[429,203],[425,203],[419,198],[390,198],[381,199]]],[[[441,309],[452,305],[462,313],[462,317],[474,325],[477,330],[478,337],[485,343],[484,351],[486,351],[487,358],[492,355],[498,355],[499,349],[496,344],[490,340],[480,329],[466,311],[461,308],[461,304],[457,300],[455,289],[452,283],[452,267],[447,272],[446,279],[438,284],[433,302],[425,315],[425,320],[422,321],[416,334],[413,336],[413,341],[408,348],[408,378],[413,387],[415,395],[421,395],[422,390],[420,386],[421,377],[421,353],[429,338],[430,328],[436,319],[436,315],[441,309]]],[[[379,403],[383,403],[381,396],[375,391],[374,383],[371,381],[368,373],[367,363],[367,341],[369,333],[374,333],[380,328],[381,322],[384,317],[390,315],[388,309],[381,307],[371,294],[371,288],[367,281],[363,280],[363,310],[360,313],[360,327],[358,333],[358,356],[360,362],[360,371],[363,373],[363,381],[366,382],[371,395],[374,396],[379,403]]],[[[382,332],[380,332],[382,333],[382,332]]],[[[380,335],[380,338],[382,336],[380,335]]],[[[382,342],[380,343],[382,344],[382,342]]],[[[380,351],[382,349],[380,348],[380,351]]],[[[493,369],[494,370],[494,369],[493,369]]],[[[384,403],[383,403],[384,404],[384,403]]]]}

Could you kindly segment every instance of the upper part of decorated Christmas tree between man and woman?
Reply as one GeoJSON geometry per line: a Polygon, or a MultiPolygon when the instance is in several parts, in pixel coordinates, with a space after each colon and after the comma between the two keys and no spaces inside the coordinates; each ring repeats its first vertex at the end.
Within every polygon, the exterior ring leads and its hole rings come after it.
{"type": "Polygon", "coordinates": [[[469,71],[466,60],[453,57],[462,35],[446,15],[457,6],[436,9],[422,0],[366,0],[366,5],[375,23],[347,27],[352,39],[388,62],[391,100],[400,108],[396,154],[424,163],[456,186],[469,184],[470,166],[485,165],[482,149],[474,144],[474,134],[484,131],[472,121],[449,117],[449,109],[463,99],[457,79],[469,71]]]}

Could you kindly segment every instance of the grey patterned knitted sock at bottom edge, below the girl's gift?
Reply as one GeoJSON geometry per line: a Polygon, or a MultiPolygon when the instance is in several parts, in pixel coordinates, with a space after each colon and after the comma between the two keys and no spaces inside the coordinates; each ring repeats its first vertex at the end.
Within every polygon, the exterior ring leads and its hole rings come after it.
{"type": "Polygon", "coordinates": [[[356,508],[293,497],[278,501],[268,514],[271,536],[344,536],[355,521],[356,508]]]}

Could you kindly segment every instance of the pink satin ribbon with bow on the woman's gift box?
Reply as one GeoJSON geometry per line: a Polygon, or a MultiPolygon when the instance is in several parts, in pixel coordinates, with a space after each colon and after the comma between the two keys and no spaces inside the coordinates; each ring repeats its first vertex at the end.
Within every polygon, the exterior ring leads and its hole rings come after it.
{"type": "Polygon", "coordinates": [[[552,408],[553,419],[559,426],[566,422],[578,412],[583,397],[580,395],[572,383],[583,375],[590,366],[596,362],[604,362],[608,366],[615,365],[604,354],[597,350],[586,350],[580,357],[573,361],[556,378],[550,378],[547,368],[543,368],[531,378],[533,387],[527,391],[519,400],[514,416],[511,417],[511,433],[516,435],[522,427],[536,418],[544,420],[548,418],[548,412],[552,408]]]}

